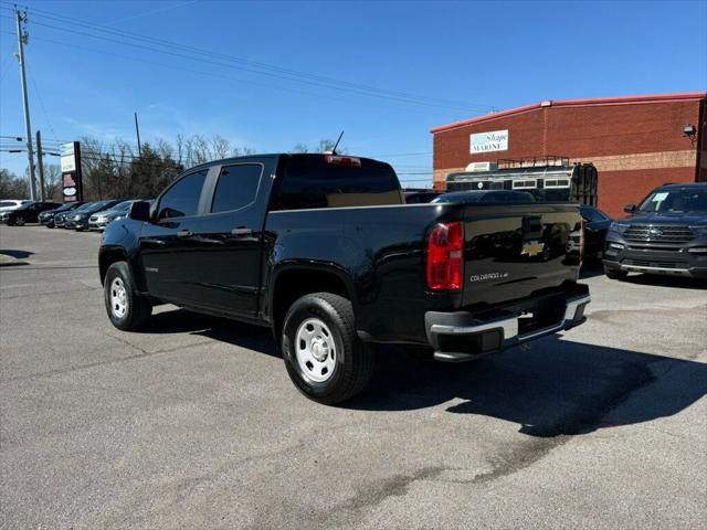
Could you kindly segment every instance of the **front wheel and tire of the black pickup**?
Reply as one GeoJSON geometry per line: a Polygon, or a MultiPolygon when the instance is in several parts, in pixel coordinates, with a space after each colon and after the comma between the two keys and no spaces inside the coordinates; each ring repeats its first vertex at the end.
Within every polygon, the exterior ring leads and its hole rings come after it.
{"type": "Polygon", "coordinates": [[[152,305],[138,295],[126,262],[116,262],[108,267],[103,290],[108,318],[116,328],[135,331],[149,321],[152,305]]]}

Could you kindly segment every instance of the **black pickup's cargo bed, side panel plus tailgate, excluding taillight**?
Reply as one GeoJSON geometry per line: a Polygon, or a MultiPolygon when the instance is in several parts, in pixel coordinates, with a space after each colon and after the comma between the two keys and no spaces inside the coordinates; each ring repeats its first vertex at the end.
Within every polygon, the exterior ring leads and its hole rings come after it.
{"type": "Polygon", "coordinates": [[[425,342],[424,312],[485,310],[577,279],[567,243],[580,230],[572,204],[407,204],[270,212],[263,290],[278,268],[307,261],[347,282],[359,335],[379,342],[425,342]],[[426,239],[437,223],[464,224],[461,292],[426,284],[426,239]],[[545,245],[550,247],[546,251],[545,245]]]}

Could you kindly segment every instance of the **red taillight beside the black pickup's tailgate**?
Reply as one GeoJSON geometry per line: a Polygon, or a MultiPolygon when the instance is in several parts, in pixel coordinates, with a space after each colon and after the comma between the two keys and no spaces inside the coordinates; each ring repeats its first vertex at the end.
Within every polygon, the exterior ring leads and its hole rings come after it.
{"type": "Polygon", "coordinates": [[[464,226],[440,223],[428,240],[428,286],[432,290],[462,290],[464,276],[464,226]]]}

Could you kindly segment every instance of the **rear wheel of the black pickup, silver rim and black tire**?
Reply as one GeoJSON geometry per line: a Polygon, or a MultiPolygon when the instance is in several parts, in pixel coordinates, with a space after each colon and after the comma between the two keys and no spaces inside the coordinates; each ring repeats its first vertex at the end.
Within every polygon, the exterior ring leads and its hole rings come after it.
{"type": "Polygon", "coordinates": [[[341,403],[361,392],[373,374],[374,351],[357,333],[346,298],[315,293],[287,310],[282,333],[285,368],[313,401],[341,403]]]}

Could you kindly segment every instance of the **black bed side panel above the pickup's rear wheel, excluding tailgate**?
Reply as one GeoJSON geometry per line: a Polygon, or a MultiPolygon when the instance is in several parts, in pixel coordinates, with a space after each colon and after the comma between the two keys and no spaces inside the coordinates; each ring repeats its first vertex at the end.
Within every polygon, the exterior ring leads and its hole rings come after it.
{"type": "MultiPolygon", "coordinates": [[[[271,212],[263,293],[288,267],[337,274],[347,285],[357,328],[379,341],[424,340],[424,311],[452,309],[461,295],[426,290],[425,236],[450,204],[271,212]]],[[[270,300],[265,301],[265,312],[270,300]]]]}

